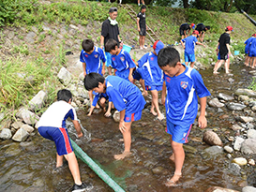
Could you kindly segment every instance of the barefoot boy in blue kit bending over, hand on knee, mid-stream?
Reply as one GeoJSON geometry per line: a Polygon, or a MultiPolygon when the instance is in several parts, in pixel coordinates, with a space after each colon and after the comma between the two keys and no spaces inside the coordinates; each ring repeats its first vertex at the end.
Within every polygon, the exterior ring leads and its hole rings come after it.
{"type": "Polygon", "coordinates": [[[122,78],[108,76],[105,79],[98,73],[86,75],[83,82],[86,90],[106,93],[115,109],[120,111],[119,130],[123,134],[125,151],[121,155],[114,155],[114,158],[116,160],[125,158],[131,154],[131,123],[141,119],[145,105],[141,91],[134,84],[122,78]]]}

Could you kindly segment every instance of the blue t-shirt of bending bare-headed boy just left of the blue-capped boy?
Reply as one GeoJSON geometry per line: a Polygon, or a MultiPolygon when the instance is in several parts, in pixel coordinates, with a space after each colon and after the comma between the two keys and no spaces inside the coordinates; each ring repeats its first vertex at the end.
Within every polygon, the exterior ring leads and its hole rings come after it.
{"type": "Polygon", "coordinates": [[[118,55],[112,55],[112,67],[116,69],[115,75],[128,80],[129,68],[134,68],[135,64],[132,61],[129,53],[121,50],[118,55]]]}

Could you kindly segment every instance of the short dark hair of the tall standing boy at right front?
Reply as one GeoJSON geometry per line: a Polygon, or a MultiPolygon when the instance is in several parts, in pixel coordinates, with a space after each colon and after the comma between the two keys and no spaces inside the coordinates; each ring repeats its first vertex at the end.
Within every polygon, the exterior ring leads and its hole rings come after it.
{"type": "Polygon", "coordinates": [[[176,66],[180,62],[179,52],[172,48],[166,47],[158,52],[158,66],[176,66]]]}

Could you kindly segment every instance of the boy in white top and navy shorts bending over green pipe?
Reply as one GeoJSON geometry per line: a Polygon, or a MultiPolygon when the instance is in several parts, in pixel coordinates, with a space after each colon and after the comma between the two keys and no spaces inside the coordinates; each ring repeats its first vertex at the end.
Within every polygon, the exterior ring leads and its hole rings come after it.
{"type": "Polygon", "coordinates": [[[69,170],[75,182],[72,191],[82,191],[85,190],[87,185],[81,182],[78,162],[66,128],[66,119],[70,117],[77,130],[78,137],[83,137],[76,111],[70,105],[71,101],[72,94],[70,91],[67,89],[58,91],[57,101],[42,114],[38,121],[38,132],[42,137],[55,142],[57,150],[56,168],[62,167],[63,156],[67,159],[69,170]]]}

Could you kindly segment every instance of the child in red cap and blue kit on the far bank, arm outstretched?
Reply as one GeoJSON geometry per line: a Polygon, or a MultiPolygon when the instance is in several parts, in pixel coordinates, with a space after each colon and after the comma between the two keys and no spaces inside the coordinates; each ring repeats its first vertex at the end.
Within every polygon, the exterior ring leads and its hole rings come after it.
{"type": "MultiPolygon", "coordinates": [[[[180,40],[183,48],[185,49],[184,57],[185,57],[186,66],[188,66],[188,62],[191,62],[190,66],[194,67],[194,64],[196,61],[195,44],[203,45],[203,43],[200,43],[197,41],[196,37],[198,36],[198,34],[199,34],[199,32],[197,30],[195,30],[195,31],[193,31],[191,36],[180,40]],[[185,45],[184,45],[184,42],[186,42],[185,45]]],[[[203,47],[205,48],[205,45],[203,45],[203,47]]]]}

